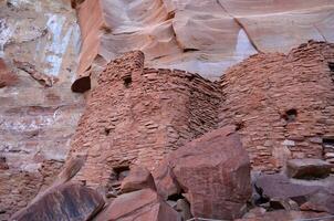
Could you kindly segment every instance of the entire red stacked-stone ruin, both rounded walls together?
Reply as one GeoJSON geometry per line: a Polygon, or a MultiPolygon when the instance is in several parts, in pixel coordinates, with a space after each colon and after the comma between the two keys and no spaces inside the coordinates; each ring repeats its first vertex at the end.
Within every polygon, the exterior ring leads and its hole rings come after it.
{"type": "Polygon", "coordinates": [[[290,158],[331,160],[333,61],[333,44],[311,41],[288,55],[253,55],[209,82],[144,69],[143,53],[127,53],[101,74],[80,120],[72,154],[87,161],[79,179],[106,185],[132,164],[154,171],[169,151],[230,124],[257,170],[278,170],[290,158]]]}

